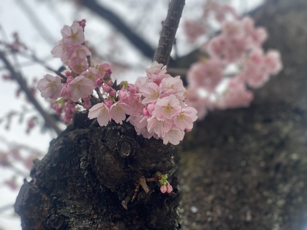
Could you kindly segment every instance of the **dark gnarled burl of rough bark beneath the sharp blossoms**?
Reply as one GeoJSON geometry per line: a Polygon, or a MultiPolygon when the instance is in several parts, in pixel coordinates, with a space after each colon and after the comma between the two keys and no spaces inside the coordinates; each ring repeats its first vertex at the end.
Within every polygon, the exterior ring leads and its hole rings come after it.
{"type": "Polygon", "coordinates": [[[100,127],[76,113],[21,187],[15,211],[22,229],[178,229],[172,152],[162,140],[136,135],[130,123],[100,127]],[[146,182],[148,193],[140,186],[131,202],[138,181],[157,171],[168,173],[173,192],[146,182]]]}

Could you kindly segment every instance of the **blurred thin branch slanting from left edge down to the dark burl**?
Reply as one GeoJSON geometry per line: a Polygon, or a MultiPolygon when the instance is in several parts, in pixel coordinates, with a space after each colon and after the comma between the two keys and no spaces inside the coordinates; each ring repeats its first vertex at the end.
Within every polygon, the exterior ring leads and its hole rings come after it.
{"type": "Polygon", "coordinates": [[[41,107],[41,105],[37,102],[37,100],[33,97],[32,93],[27,87],[27,84],[24,78],[21,76],[20,73],[16,72],[14,67],[11,65],[9,60],[6,58],[5,54],[0,51],[0,59],[2,59],[3,63],[5,64],[6,68],[10,71],[12,77],[17,81],[20,88],[25,92],[29,101],[35,106],[39,113],[41,113],[42,117],[44,118],[47,125],[52,127],[56,133],[59,135],[62,131],[56,125],[56,121],[52,116],[50,116],[46,111],[41,107]]]}

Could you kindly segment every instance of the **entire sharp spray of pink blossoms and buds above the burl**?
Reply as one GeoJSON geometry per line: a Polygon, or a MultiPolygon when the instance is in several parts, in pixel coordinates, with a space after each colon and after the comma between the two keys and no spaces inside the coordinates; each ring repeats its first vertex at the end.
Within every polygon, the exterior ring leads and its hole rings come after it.
{"type": "Polygon", "coordinates": [[[190,131],[197,119],[196,109],[185,105],[180,76],[171,77],[166,74],[166,66],[154,62],[146,69],[146,77],[138,78],[135,84],[122,81],[117,85],[111,79],[109,64],[90,65],[84,26],[83,20],[61,30],[63,39],[51,53],[68,69],[60,76],[45,75],[37,83],[41,96],[56,100],[53,108],[56,114],[64,114],[62,119],[67,123],[82,105],[89,110],[88,117],[97,118],[101,126],[111,120],[122,124],[130,116],[126,121],[134,125],[138,135],[179,144],[185,130],[190,131]]]}

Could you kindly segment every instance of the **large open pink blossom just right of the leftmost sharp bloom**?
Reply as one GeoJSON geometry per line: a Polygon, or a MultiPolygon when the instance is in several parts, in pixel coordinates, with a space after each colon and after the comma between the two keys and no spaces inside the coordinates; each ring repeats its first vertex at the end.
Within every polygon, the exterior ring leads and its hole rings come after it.
{"type": "Polygon", "coordinates": [[[90,79],[84,76],[78,76],[67,85],[67,89],[71,94],[70,99],[73,102],[77,102],[80,98],[91,95],[95,89],[95,85],[90,79]]]}

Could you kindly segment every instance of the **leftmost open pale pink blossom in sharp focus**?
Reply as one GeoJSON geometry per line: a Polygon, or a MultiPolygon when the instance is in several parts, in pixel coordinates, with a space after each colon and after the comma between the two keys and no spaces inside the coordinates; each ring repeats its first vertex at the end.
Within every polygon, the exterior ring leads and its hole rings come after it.
{"type": "Polygon", "coordinates": [[[61,79],[59,76],[50,74],[37,82],[37,89],[41,91],[43,98],[58,99],[62,88],[61,79]]]}

